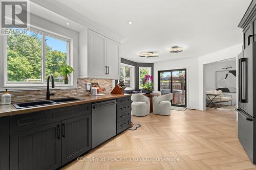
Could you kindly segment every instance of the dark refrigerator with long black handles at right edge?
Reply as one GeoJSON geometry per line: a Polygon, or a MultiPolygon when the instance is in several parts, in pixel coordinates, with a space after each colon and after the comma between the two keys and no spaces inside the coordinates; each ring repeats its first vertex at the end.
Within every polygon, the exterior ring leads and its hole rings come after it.
{"type": "Polygon", "coordinates": [[[238,56],[238,138],[256,163],[256,42],[238,56]],[[254,88],[255,87],[255,90],[254,88]],[[254,99],[253,99],[254,97],[254,99]],[[255,112],[254,112],[255,111],[255,112]]]}

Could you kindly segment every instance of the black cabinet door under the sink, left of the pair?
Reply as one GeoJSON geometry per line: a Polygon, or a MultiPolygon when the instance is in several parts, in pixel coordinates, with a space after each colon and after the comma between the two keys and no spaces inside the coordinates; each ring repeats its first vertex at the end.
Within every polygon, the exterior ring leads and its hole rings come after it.
{"type": "Polygon", "coordinates": [[[58,168],[60,140],[60,122],[10,134],[10,169],[58,168]]]}

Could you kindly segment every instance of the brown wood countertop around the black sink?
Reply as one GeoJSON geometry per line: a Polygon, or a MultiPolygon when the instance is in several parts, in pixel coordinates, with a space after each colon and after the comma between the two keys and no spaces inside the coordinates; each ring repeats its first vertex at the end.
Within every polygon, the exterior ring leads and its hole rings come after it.
{"type": "Polygon", "coordinates": [[[79,101],[56,103],[56,104],[29,107],[29,108],[23,108],[23,109],[16,109],[12,104],[0,105],[0,117],[11,116],[15,114],[30,113],[30,112],[41,111],[41,110],[55,109],[55,108],[66,107],[66,106],[74,106],[74,105],[80,105],[80,104],[86,104],[86,103],[108,101],[108,100],[123,98],[125,96],[131,96],[131,95],[132,94],[106,94],[106,95],[100,95],[100,96],[86,95],[86,96],[77,97],[79,99],[82,99],[79,101]]]}

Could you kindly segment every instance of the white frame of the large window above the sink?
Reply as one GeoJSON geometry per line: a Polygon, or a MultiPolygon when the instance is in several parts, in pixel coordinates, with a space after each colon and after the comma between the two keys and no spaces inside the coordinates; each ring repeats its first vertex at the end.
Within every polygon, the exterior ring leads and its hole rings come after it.
{"type": "MultiPolygon", "coordinates": [[[[67,42],[67,65],[72,65],[72,38],[53,33],[51,31],[47,31],[45,29],[41,29],[38,27],[30,26],[28,31],[32,31],[37,34],[41,34],[41,82],[10,82],[8,81],[8,54],[7,54],[7,35],[3,36],[3,53],[4,53],[4,72],[3,72],[3,78],[4,78],[4,87],[13,87],[13,88],[26,88],[26,87],[45,87],[47,86],[46,81],[46,75],[45,75],[45,69],[46,69],[46,54],[45,54],[45,38],[46,36],[66,41],[67,42]]],[[[73,80],[73,74],[70,75],[70,81],[69,85],[64,85],[63,82],[55,82],[55,86],[58,88],[65,87],[65,88],[74,88],[74,80],[73,80]]],[[[55,88],[56,88],[55,87],[55,88]]]]}

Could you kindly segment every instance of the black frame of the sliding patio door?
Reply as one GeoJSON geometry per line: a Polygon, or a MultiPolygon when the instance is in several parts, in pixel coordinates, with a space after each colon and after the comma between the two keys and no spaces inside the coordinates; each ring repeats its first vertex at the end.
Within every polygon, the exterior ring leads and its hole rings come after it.
{"type": "Polygon", "coordinates": [[[158,91],[160,91],[160,73],[161,72],[170,72],[170,92],[173,93],[173,71],[185,71],[185,105],[175,105],[172,103],[172,106],[178,106],[178,107],[187,107],[187,69],[181,68],[181,69],[167,69],[167,70],[159,70],[158,71],[158,91]]]}

